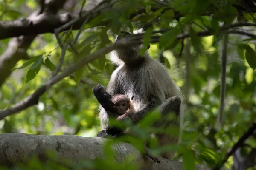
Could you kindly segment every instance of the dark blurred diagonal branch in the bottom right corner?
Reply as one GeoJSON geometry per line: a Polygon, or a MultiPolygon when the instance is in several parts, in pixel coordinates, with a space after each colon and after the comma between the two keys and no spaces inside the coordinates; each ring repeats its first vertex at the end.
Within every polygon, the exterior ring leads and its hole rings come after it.
{"type": "Polygon", "coordinates": [[[256,119],[253,121],[253,124],[251,125],[251,127],[243,134],[243,136],[241,136],[241,138],[238,140],[238,142],[236,142],[236,144],[233,145],[231,150],[225,154],[224,158],[219,163],[217,163],[216,166],[212,170],[219,170],[224,165],[224,163],[227,161],[227,159],[231,155],[233,155],[236,152],[236,150],[239,147],[241,147],[250,136],[253,135],[255,130],[256,130],[256,119]]]}

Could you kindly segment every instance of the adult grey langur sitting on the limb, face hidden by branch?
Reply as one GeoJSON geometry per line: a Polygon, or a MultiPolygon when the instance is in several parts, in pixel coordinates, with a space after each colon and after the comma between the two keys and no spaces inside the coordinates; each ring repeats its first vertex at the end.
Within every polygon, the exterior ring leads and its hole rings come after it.
{"type": "MultiPolygon", "coordinates": [[[[143,32],[143,29],[134,31],[134,34],[140,32],[143,32]]],[[[129,32],[124,33],[125,35],[131,34],[129,32]]],[[[115,37],[115,41],[119,38],[121,37],[115,37]]],[[[130,117],[134,123],[137,123],[148,111],[158,107],[160,113],[162,113],[162,118],[155,126],[168,127],[175,124],[180,125],[181,128],[184,114],[183,95],[160,62],[152,59],[148,51],[143,56],[140,55],[142,47],[142,44],[134,45],[116,49],[110,53],[110,60],[118,67],[111,75],[106,92],[110,94],[109,96],[124,94],[130,99],[134,96],[135,113],[127,112],[117,119],[121,120],[125,119],[125,117],[130,117]],[[171,112],[175,113],[175,120],[165,119],[165,116],[171,112]],[[178,119],[180,119],[180,122],[178,122],[178,119]]],[[[97,136],[105,137],[109,124],[109,115],[102,105],[99,106],[99,110],[102,132],[98,133],[97,136]]],[[[157,136],[160,146],[178,142],[177,137],[168,134],[155,134],[155,136],[157,136]]],[[[162,153],[161,156],[166,159],[172,159],[174,152],[168,151],[162,153]]]]}

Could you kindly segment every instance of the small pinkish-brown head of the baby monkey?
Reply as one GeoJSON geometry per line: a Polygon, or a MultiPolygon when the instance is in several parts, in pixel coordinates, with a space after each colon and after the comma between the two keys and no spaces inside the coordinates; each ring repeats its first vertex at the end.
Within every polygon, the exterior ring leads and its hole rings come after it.
{"type": "Polygon", "coordinates": [[[112,102],[115,104],[116,111],[119,115],[125,114],[130,108],[130,99],[123,94],[116,94],[113,96],[112,102]]]}

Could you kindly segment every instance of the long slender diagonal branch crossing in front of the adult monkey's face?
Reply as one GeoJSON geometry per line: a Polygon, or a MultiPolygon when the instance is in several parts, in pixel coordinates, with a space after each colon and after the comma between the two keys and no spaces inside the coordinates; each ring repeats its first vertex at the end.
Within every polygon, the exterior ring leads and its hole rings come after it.
{"type": "MultiPolygon", "coordinates": [[[[165,30],[166,31],[166,30],[165,30]]],[[[163,30],[159,31],[152,31],[153,34],[164,32],[163,30]]],[[[245,33],[243,31],[228,31],[229,34],[246,34],[250,37],[256,37],[255,34],[249,34],[245,33]]],[[[202,31],[197,33],[198,36],[204,37],[212,35],[209,31],[202,31]]],[[[127,47],[130,45],[137,45],[143,43],[143,35],[144,33],[140,34],[134,34],[134,35],[128,35],[125,38],[122,38],[118,41],[116,41],[114,44],[108,45],[107,47],[101,48],[98,51],[95,51],[86,57],[82,57],[79,61],[71,65],[69,68],[62,71],[60,74],[56,75],[55,77],[52,77],[45,85],[43,85],[41,88],[36,90],[33,94],[28,96],[26,99],[24,99],[22,102],[17,103],[12,108],[8,108],[6,110],[0,111],[0,120],[3,119],[6,116],[12,115],[14,113],[17,113],[19,111],[22,111],[23,109],[26,109],[32,105],[36,105],[38,103],[38,98],[44,94],[45,91],[47,91],[49,88],[52,87],[52,85],[55,85],[57,82],[59,82],[61,79],[64,79],[67,76],[70,76],[73,72],[79,70],[83,66],[87,65],[89,62],[92,62],[94,59],[99,58],[102,55],[105,55],[109,53],[112,50],[115,50],[117,48],[127,47]]],[[[189,37],[189,34],[179,34],[177,35],[176,40],[180,40],[183,38],[189,37]]],[[[160,39],[159,35],[152,35],[151,36],[151,43],[156,43],[160,39]]]]}

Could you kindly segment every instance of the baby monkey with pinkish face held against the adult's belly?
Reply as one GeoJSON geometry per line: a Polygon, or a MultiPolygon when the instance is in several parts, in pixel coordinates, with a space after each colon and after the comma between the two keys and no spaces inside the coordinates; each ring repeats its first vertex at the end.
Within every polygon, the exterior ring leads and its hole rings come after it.
{"type": "Polygon", "coordinates": [[[132,99],[134,96],[132,96],[131,100],[128,96],[125,96],[124,94],[116,94],[112,97],[112,102],[115,104],[114,107],[116,108],[116,118],[118,116],[121,116],[125,114],[127,111],[135,112],[134,107],[132,105],[132,99]]]}

